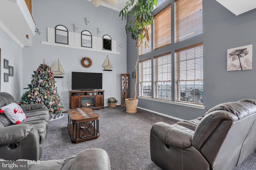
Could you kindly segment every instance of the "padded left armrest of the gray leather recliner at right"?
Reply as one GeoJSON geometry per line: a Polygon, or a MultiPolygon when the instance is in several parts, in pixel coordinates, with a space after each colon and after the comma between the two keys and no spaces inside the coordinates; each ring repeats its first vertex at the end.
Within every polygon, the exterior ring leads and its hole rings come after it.
{"type": "Polygon", "coordinates": [[[194,131],[178,124],[169,125],[164,122],[158,122],[152,126],[151,133],[164,143],[181,149],[191,146],[194,131]]]}

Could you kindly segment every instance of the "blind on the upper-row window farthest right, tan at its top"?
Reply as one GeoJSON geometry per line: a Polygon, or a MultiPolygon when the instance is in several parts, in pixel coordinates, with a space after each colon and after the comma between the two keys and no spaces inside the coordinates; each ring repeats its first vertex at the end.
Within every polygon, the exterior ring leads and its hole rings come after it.
{"type": "Polygon", "coordinates": [[[203,32],[202,0],[175,1],[175,42],[203,32]]]}

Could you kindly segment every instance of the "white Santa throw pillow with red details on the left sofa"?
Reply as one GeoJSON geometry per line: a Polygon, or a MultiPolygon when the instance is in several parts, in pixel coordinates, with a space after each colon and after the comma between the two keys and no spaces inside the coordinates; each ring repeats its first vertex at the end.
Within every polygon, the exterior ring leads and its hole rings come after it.
{"type": "Polygon", "coordinates": [[[20,124],[26,119],[26,115],[22,108],[14,102],[1,107],[0,109],[0,113],[4,113],[12,123],[20,124]]]}

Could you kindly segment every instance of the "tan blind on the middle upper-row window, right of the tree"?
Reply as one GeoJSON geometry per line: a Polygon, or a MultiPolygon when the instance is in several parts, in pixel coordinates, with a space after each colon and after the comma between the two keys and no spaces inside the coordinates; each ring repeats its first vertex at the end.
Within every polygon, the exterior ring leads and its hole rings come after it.
{"type": "Polygon", "coordinates": [[[171,6],[154,17],[154,50],[171,43],[171,6]]]}

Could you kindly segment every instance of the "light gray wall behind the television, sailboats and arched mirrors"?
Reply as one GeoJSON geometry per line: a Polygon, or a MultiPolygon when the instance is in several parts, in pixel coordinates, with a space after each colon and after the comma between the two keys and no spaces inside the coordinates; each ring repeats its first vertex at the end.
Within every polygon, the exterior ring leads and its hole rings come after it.
{"type": "MultiPolygon", "coordinates": [[[[42,33],[41,35],[36,33],[33,38],[33,47],[24,47],[23,49],[22,88],[30,84],[31,74],[42,64],[43,59],[46,59],[48,65],[52,67],[60,58],[60,63],[66,74],[63,74],[64,78],[55,78],[55,80],[65,108],[69,107],[68,90],[71,90],[72,71],[102,72],[105,106],[108,105],[107,99],[110,97],[116,97],[118,104],[120,104],[120,74],[126,73],[126,31],[124,29],[126,21],[121,21],[119,12],[103,6],[96,8],[87,0],[33,0],[32,9],[36,28],[42,33]],[[84,17],[90,21],[88,25],[85,24],[84,17]],[[78,27],[75,33],[88,30],[92,36],[96,37],[102,37],[105,34],[110,35],[113,40],[116,40],[116,51],[119,51],[120,54],[41,44],[41,41],[47,41],[47,27],[55,28],[56,25],[64,25],[68,31],[74,32],[73,23],[78,27]],[[101,31],[99,35],[97,35],[97,27],[101,31]],[[123,47],[118,47],[119,44],[123,47]],[[113,71],[103,71],[102,64],[107,55],[113,65],[113,71]],[[89,57],[92,60],[91,67],[82,66],[81,59],[83,57],[89,57]]],[[[23,90],[23,92],[25,91],[23,90]]]]}

